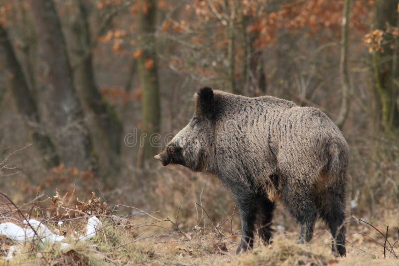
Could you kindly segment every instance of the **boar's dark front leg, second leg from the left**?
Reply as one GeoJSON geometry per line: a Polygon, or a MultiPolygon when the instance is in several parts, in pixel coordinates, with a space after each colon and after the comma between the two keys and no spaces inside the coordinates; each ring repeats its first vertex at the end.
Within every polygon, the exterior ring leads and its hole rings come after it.
{"type": "Polygon", "coordinates": [[[265,245],[269,244],[270,238],[274,232],[271,229],[271,220],[273,219],[273,211],[275,204],[264,196],[257,199],[256,220],[258,224],[258,235],[265,245]]]}

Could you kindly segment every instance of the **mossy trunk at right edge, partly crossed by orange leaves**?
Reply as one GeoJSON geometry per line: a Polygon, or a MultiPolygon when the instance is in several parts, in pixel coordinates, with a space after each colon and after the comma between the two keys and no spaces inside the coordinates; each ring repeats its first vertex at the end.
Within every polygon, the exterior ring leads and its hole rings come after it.
{"type": "MultiPolygon", "coordinates": [[[[387,24],[398,25],[398,0],[376,0],[374,28],[385,31],[387,24]]],[[[377,92],[380,96],[382,124],[387,132],[399,129],[399,109],[396,99],[399,87],[395,84],[398,78],[398,47],[392,43],[382,45],[383,51],[373,54],[374,76],[377,92]]]]}

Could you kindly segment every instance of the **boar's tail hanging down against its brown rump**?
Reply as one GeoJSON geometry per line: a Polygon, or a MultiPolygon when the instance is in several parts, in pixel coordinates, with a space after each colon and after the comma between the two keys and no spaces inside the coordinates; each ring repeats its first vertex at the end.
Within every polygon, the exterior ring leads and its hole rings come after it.
{"type": "Polygon", "coordinates": [[[327,170],[332,184],[346,183],[349,161],[348,144],[342,139],[331,139],[327,144],[328,165],[327,170]],[[338,182],[338,183],[337,183],[338,182]]]}

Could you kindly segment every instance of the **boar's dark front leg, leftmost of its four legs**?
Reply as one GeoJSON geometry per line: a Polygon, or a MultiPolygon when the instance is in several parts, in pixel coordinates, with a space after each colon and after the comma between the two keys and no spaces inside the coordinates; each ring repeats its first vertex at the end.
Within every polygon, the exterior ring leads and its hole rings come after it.
{"type": "MultiPolygon", "coordinates": [[[[234,192],[233,192],[234,193],[234,192]]],[[[256,197],[250,191],[235,194],[241,218],[241,242],[236,253],[246,252],[253,248],[253,230],[256,218],[256,197]]]]}

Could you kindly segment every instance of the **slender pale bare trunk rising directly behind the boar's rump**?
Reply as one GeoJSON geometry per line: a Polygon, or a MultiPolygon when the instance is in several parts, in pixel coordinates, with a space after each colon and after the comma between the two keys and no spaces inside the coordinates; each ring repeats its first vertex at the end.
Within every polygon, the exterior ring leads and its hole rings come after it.
{"type": "Polygon", "coordinates": [[[345,0],[344,15],[342,17],[342,36],[341,36],[341,59],[340,76],[342,82],[342,103],[341,110],[335,124],[338,128],[344,127],[349,112],[349,92],[351,91],[351,81],[348,69],[348,48],[349,48],[349,24],[351,18],[351,0],[345,0]]]}

